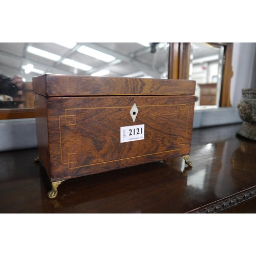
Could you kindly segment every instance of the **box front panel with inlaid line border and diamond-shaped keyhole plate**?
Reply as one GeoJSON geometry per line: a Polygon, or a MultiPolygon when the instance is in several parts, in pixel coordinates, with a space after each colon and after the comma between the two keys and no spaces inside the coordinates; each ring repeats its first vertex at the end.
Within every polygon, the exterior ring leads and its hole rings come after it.
{"type": "Polygon", "coordinates": [[[52,178],[189,154],[194,102],[194,96],[49,98],[52,178]]]}

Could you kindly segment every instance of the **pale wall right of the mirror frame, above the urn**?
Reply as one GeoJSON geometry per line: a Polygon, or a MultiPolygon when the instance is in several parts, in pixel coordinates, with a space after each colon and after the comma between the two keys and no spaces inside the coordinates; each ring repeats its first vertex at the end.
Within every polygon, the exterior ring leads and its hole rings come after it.
{"type": "Polygon", "coordinates": [[[256,88],[256,43],[234,42],[232,55],[233,76],[230,84],[230,101],[237,106],[242,89],[256,88]]]}

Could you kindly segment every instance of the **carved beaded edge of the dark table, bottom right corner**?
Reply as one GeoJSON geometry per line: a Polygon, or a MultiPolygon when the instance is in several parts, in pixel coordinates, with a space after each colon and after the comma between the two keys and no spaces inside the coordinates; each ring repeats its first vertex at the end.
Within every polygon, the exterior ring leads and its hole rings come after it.
{"type": "Polygon", "coordinates": [[[186,214],[216,214],[222,210],[236,206],[239,203],[245,202],[256,197],[256,186],[240,191],[229,197],[225,197],[213,203],[201,206],[197,209],[185,212],[186,214]]]}

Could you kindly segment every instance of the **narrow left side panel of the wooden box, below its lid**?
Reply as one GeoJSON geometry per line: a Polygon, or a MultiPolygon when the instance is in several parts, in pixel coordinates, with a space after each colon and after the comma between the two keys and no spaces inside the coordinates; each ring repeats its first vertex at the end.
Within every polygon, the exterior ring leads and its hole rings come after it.
{"type": "Polygon", "coordinates": [[[49,154],[49,144],[48,144],[49,141],[48,141],[46,98],[44,96],[34,94],[34,103],[35,103],[35,124],[36,124],[38,152],[42,162],[44,163],[48,177],[50,177],[50,154],[49,154]]]}

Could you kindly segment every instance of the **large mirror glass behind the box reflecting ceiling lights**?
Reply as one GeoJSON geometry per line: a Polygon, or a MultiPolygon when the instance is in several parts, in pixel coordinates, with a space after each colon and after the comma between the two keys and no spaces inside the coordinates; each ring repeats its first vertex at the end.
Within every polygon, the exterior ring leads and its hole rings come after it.
{"type": "Polygon", "coordinates": [[[169,43],[1,42],[0,108],[34,108],[44,74],[168,78],[169,43]]]}

